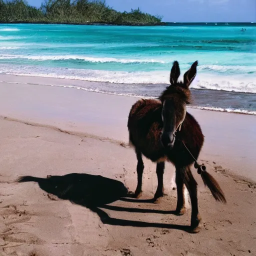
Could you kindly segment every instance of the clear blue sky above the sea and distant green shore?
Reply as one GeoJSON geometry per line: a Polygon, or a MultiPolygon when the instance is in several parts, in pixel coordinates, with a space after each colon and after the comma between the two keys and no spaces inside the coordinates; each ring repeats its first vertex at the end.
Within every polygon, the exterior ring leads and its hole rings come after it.
{"type": "MultiPolygon", "coordinates": [[[[41,0],[27,0],[40,6],[41,0]]],[[[170,22],[256,22],[256,0],[106,0],[119,11],[139,7],[170,22]]]]}

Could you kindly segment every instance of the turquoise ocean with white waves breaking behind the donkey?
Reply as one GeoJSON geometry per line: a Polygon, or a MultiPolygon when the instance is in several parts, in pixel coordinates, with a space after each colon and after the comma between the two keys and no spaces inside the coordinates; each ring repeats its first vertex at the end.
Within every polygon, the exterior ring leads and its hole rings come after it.
{"type": "Polygon", "coordinates": [[[70,79],[69,87],[157,97],[169,84],[174,60],[180,79],[198,60],[191,107],[256,114],[256,23],[0,24],[0,73],[60,77],[70,79]],[[95,82],[77,86],[73,79],[95,82]]]}

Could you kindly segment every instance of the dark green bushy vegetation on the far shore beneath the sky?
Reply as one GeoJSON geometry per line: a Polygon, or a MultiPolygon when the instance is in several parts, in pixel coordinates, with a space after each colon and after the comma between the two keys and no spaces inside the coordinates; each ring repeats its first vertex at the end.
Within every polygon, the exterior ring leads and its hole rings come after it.
{"type": "Polygon", "coordinates": [[[25,0],[0,0],[0,22],[159,24],[160,16],[139,8],[119,12],[100,0],[45,0],[39,8],[25,0]]]}

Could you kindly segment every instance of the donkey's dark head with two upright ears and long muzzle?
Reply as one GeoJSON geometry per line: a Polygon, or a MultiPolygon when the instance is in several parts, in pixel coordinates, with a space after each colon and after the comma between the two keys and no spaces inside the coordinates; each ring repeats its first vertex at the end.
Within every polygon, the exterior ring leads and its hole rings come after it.
{"type": "Polygon", "coordinates": [[[180,69],[177,61],[170,70],[170,86],[159,97],[162,102],[163,129],[161,143],[171,149],[175,141],[175,131],[180,127],[186,114],[186,104],[190,102],[189,85],[196,75],[197,61],[184,73],[183,81],[177,81],[180,69]]]}

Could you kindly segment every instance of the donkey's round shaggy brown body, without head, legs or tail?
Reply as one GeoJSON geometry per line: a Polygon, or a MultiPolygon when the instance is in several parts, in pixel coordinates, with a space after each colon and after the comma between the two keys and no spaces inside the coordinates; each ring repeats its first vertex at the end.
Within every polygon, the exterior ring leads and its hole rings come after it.
{"type": "MultiPolygon", "coordinates": [[[[140,99],[132,105],[128,117],[129,141],[135,148],[153,162],[166,159],[174,165],[189,165],[193,163],[190,154],[179,140],[175,140],[169,153],[160,143],[162,131],[162,104],[160,100],[140,99]],[[168,159],[167,154],[170,159],[168,159]]],[[[198,122],[186,112],[179,137],[186,144],[195,158],[199,155],[203,144],[203,134],[198,122]]]]}

